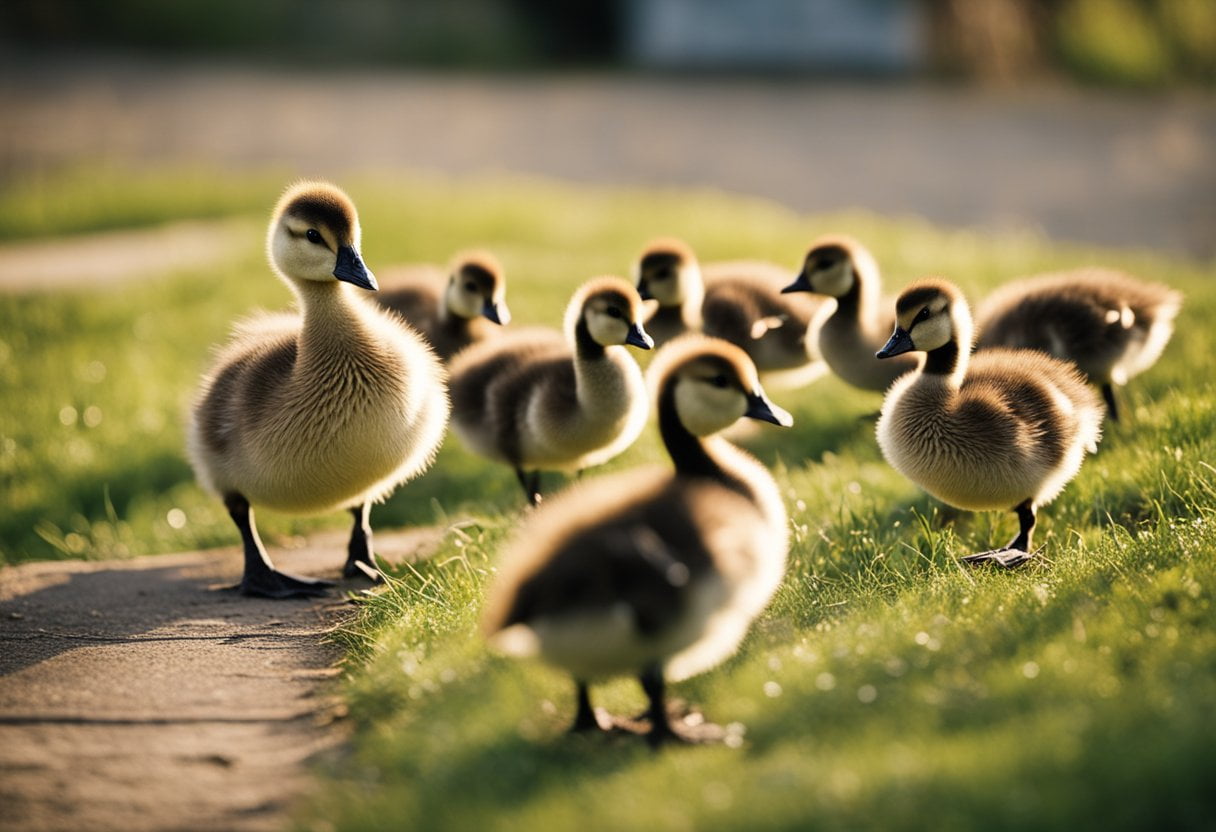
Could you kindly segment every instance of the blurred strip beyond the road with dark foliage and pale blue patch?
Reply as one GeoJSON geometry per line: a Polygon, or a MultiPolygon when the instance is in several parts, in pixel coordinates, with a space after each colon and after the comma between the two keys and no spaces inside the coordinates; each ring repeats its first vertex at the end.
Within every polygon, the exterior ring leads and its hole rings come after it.
{"type": "Polygon", "coordinates": [[[1216,79],[1211,0],[9,0],[6,50],[445,68],[1216,79]]]}

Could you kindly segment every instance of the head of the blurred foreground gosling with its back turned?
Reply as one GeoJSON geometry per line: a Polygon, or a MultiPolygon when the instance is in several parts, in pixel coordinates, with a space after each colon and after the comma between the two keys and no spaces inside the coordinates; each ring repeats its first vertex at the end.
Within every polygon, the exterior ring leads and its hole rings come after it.
{"type": "Polygon", "coordinates": [[[698,437],[744,417],[782,427],[794,423],[765,394],[748,354],[721,338],[692,333],[671,341],[655,356],[649,380],[659,406],[670,401],[680,423],[698,437]]]}

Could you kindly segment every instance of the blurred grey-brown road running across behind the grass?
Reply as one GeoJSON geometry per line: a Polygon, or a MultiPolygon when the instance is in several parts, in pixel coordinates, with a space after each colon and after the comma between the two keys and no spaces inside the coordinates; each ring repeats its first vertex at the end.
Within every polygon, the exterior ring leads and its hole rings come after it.
{"type": "Polygon", "coordinates": [[[0,66],[0,181],[77,159],[709,186],[1216,255],[1216,96],[636,75],[0,66]]]}

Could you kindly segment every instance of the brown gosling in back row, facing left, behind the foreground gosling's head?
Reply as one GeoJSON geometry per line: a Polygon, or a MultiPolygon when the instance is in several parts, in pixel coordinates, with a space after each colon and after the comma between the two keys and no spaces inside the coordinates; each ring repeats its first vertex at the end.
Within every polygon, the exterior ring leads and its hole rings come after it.
{"type": "Polygon", "coordinates": [[[801,387],[827,372],[817,333],[829,309],[782,296],[787,269],[762,260],[702,265],[687,243],[666,237],[642,251],[635,282],[643,300],[658,304],[646,321],[658,344],[685,332],[724,338],[747,352],[770,387],[801,387]]]}

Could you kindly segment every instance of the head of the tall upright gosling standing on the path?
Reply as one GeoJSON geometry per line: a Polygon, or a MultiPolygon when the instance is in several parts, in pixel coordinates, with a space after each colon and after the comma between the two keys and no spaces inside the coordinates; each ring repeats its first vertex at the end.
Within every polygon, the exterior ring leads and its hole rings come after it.
{"type": "Polygon", "coordinates": [[[376,276],[359,254],[355,203],[328,182],[297,182],[287,189],[270,219],[270,263],[297,283],[344,281],[376,291],[376,276]]]}

